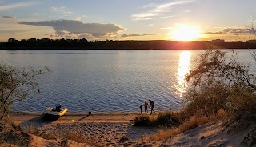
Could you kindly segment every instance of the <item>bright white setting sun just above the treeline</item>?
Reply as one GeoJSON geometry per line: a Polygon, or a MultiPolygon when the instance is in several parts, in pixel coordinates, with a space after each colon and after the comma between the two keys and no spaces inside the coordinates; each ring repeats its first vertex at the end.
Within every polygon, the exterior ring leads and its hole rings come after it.
{"type": "Polygon", "coordinates": [[[171,33],[170,38],[177,41],[191,41],[200,38],[200,31],[196,26],[179,25],[171,33]]]}

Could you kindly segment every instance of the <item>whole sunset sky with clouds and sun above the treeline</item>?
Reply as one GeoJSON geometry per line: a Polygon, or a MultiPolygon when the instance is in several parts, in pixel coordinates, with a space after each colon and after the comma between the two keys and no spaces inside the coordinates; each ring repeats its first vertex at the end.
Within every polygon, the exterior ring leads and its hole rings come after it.
{"type": "Polygon", "coordinates": [[[255,0],[0,0],[0,41],[255,39],[255,0]]]}

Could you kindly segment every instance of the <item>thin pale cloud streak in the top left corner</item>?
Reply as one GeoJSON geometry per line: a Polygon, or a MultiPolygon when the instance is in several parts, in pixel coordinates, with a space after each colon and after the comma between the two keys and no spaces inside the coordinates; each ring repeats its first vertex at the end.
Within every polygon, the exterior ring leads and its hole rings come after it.
{"type": "Polygon", "coordinates": [[[11,4],[0,6],[0,11],[13,10],[13,9],[16,9],[16,8],[38,5],[38,3],[39,2],[34,2],[34,1],[11,3],[11,4]]]}

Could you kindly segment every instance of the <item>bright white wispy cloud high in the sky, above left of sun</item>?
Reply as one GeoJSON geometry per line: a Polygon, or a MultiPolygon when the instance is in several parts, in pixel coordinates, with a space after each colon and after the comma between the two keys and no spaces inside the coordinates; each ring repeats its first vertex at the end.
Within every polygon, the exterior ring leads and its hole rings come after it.
{"type": "Polygon", "coordinates": [[[162,4],[150,3],[146,6],[143,6],[144,9],[149,9],[149,10],[146,10],[146,11],[138,13],[138,14],[132,14],[131,18],[133,18],[133,20],[150,20],[150,19],[157,19],[157,18],[170,18],[170,17],[173,17],[173,15],[168,14],[168,12],[170,12],[170,10],[174,6],[184,5],[189,2],[193,2],[193,0],[174,1],[174,2],[168,2],[168,3],[162,3],[162,4]]]}

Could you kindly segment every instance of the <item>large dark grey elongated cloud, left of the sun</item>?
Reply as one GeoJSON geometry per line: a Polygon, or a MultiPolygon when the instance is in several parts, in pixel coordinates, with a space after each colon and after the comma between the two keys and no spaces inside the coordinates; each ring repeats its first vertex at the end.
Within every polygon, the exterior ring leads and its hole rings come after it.
{"type": "Polygon", "coordinates": [[[60,37],[66,35],[79,36],[82,34],[91,34],[95,38],[104,38],[106,36],[116,36],[124,28],[115,24],[83,23],[75,20],[52,20],[41,22],[18,22],[22,25],[32,26],[51,26],[55,34],[60,37]]]}

